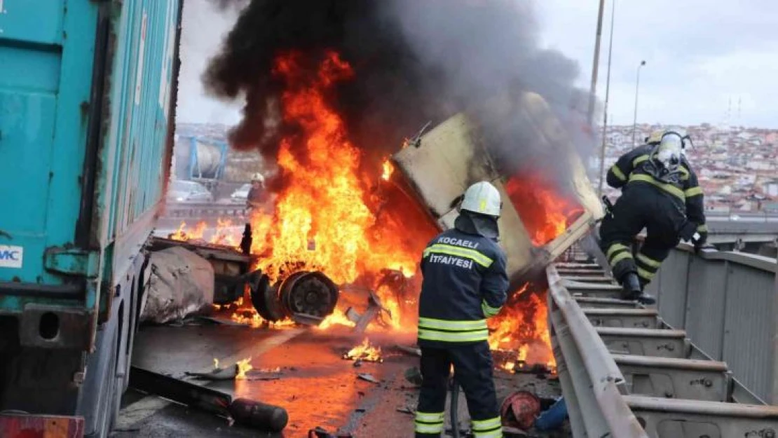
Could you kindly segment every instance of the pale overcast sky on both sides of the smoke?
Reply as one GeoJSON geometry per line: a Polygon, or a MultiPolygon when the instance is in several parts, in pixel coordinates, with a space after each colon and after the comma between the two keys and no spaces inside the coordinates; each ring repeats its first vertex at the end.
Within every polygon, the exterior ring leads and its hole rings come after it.
{"type": "MultiPolygon", "coordinates": [[[[601,101],[605,100],[612,1],[606,0],[603,19],[597,89],[601,101]]],[[[778,128],[778,2],[615,1],[609,124],[632,124],[637,67],[645,60],[639,123],[719,124],[725,121],[731,100],[731,124],[778,128]]],[[[534,3],[541,44],[578,61],[579,85],[588,89],[598,0],[534,3]]],[[[236,123],[240,105],[205,96],[199,76],[237,12],[216,12],[205,0],[185,4],[179,120],[236,123]]]]}

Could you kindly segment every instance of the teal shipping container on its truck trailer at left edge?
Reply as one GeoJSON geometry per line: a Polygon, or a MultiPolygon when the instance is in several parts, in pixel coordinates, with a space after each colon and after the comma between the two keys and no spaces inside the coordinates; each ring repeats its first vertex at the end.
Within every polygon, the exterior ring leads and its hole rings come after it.
{"type": "Polygon", "coordinates": [[[110,429],[170,170],[181,8],[0,0],[0,412],[110,429]]]}

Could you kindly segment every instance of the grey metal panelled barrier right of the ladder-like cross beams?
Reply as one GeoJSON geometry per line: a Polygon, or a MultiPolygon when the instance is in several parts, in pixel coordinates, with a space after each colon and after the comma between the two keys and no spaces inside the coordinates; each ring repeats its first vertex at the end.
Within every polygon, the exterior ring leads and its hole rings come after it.
{"type": "MultiPolygon", "coordinates": [[[[736,389],[778,405],[776,259],[681,244],[648,287],[661,318],[685,330],[710,359],[727,363],[736,389]]],[[[748,398],[742,394],[741,398],[748,398]]]]}

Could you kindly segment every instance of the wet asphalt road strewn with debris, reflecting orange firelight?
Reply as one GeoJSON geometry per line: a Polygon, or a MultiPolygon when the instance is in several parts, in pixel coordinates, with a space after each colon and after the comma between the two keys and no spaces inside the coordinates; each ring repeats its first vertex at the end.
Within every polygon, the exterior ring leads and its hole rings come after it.
{"type": "MultiPolygon", "coordinates": [[[[226,365],[251,357],[254,370],[249,376],[262,380],[217,381],[208,386],[236,398],[282,406],[289,413],[289,424],[279,434],[230,426],[219,416],[129,390],[111,436],[296,437],[307,436],[317,426],[359,438],[413,436],[412,415],[401,411],[415,408],[418,387],[405,380],[405,370],[418,366],[419,359],[396,351],[393,345],[412,345],[415,335],[370,335],[370,342],[382,347],[384,362],[356,367],[342,355],[363,338],[346,328],[143,327],[135,341],[135,366],[189,380],[186,371],[209,371],[214,358],[226,365]],[[378,383],[360,379],[360,373],[370,374],[378,383]]],[[[559,394],[558,384],[534,376],[496,371],[495,380],[500,399],[518,389],[545,397],[559,394]]],[[[464,426],[468,424],[464,397],[459,405],[464,426]]]]}

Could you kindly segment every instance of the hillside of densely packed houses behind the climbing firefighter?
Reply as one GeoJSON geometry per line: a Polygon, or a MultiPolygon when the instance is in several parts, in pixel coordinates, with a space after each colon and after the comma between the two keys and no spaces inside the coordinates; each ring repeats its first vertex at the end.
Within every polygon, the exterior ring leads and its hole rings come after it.
{"type": "MultiPolygon", "coordinates": [[[[633,145],[633,126],[609,126],[605,133],[605,172],[616,159],[642,145],[651,131],[668,128],[638,124],[633,145]]],[[[686,149],[692,169],[705,194],[709,212],[778,212],[778,130],[715,126],[685,126],[693,146],[686,149]]],[[[599,171],[599,157],[589,161],[592,175],[599,171]]],[[[597,183],[596,177],[593,182],[597,183]]],[[[617,198],[619,191],[604,184],[604,194],[617,198]]]]}

